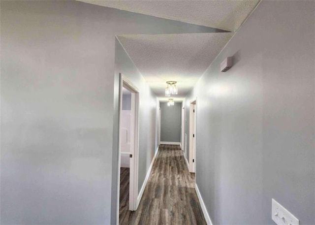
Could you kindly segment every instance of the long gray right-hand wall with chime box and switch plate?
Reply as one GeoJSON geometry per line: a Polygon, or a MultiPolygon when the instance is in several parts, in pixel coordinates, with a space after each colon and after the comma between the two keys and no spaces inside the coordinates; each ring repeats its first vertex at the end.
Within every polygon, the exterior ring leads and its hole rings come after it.
{"type": "Polygon", "coordinates": [[[314,21],[315,1],[262,1],[186,97],[189,112],[197,96],[196,183],[214,224],[274,224],[272,198],[315,224],[314,21]]]}

